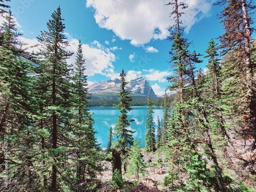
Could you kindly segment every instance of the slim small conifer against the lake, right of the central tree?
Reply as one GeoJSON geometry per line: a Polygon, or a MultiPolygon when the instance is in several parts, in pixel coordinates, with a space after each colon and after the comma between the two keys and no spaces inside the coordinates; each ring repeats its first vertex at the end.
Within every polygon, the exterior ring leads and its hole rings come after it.
{"type": "Polygon", "coordinates": [[[153,102],[151,101],[151,94],[148,92],[147,96],[147,119],[145,124],[145,151],[154,152],[156,148],[156,139],[155,139],[155,124],[153,119],[153,102]]]}

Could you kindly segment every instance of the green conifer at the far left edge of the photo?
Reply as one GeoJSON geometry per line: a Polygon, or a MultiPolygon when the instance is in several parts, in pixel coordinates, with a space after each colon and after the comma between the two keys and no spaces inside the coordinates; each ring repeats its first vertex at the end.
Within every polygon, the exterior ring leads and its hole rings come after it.
{"type": "MultiPolygon", "coordinates": [[[[1,31],[0,44],[0,132],[9,135],[9,169],[19,170],[16,174],[9,175],[8,188],[13,191],[21,186],[34,187],[38,174],[33,174],[33,158],[36,155],[33,147],[36,146],[39,134],[34,124],[38,108],[33,90],[34,77],[31,76],[35,68],[31,62],[18,57],[17,37],[20,34],[15,32],[15,27],[9,11],[1,31]],[[16,183],[13,182],[15,180],[16,183]]],[[[23,53],[22,49],[19,50],[19,53],[23,53]]]]}

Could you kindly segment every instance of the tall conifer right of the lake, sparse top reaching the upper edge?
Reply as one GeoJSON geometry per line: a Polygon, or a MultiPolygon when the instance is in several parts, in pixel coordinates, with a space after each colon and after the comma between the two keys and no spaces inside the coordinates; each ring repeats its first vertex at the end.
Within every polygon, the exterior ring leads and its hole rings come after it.
{"type": "MultiPolygon", "coordinates": [[[[197,105],[201,99],[196,87],[195,65],[202,61],[198,58],[200,54],[189,51],[189,43],[187,39],[183,38],[183,29],[180,26],[182,24],[180,18],[183,13],[180,12],[180,9],[185,9],[187,6],[177,0],[167,5],[173,6],[171,16],[176,21],[175,26],[170,28],[172,31],[169,37],[173,41],[172,50],[169,52],[170,63],[173,63],[172,67],[176,74],[168,78],[172,82],[169,88],[179,94],[179,101],[167,124],[166,150],[173,165],[166,180],[173,183],[176,178],[175,183],[177,183],[181,177],[180,173],[186,170],[184,174],[189,176],[189,180],[185,186],[179,184],[179,187],[188,191],[201,191],[205,190],[206,183],[209,181],[209,170],[206,170],[206,162],[202,159],[196,142],[201,136],[200,128],[207,123],[201,121],[202,116],[204,119],[206,117],[204,116],[205,111],[200,108],[201,105],[197,105]],[[199,122],[198,119],[200,119],[199,122]]],[[[208,127],[204,127],[203,130],[207,132],[208,127]]],[[[207,138],[208,146],[211,146],[210,137],[207,138]]]]}

